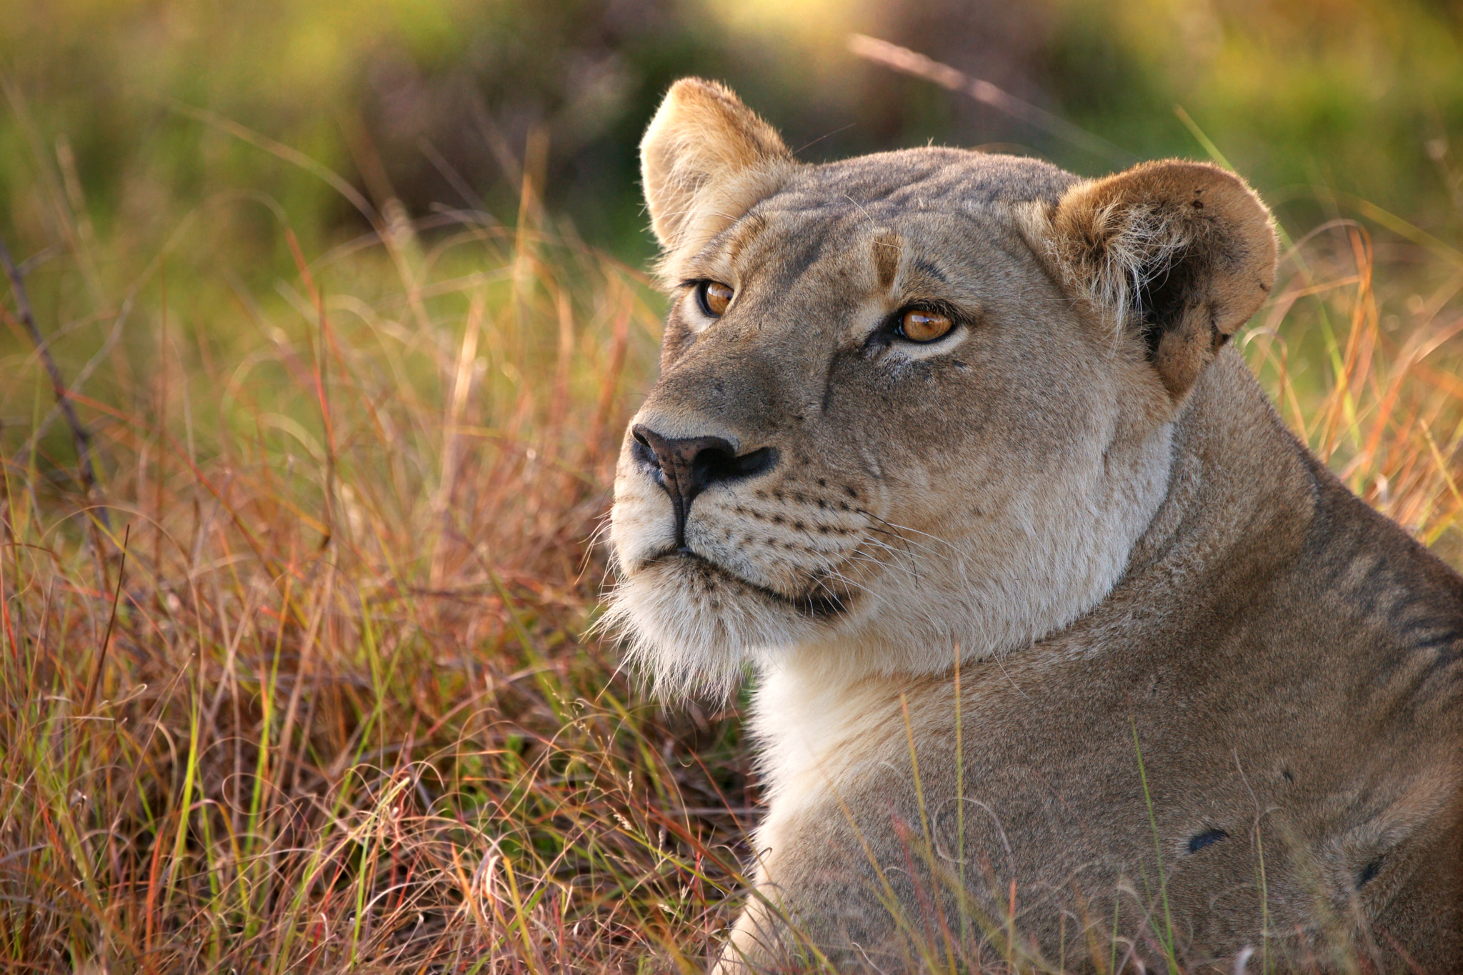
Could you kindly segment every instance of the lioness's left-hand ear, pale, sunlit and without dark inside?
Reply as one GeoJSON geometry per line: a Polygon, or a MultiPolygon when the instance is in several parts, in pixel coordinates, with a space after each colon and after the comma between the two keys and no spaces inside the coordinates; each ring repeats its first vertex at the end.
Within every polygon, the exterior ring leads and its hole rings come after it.
{"type": "Polygon", "coordinates": [[[781,136],[723,85],[683,77],[641,140],[651,227],[667,251],[699,249],[793,168],[781,136]]]}

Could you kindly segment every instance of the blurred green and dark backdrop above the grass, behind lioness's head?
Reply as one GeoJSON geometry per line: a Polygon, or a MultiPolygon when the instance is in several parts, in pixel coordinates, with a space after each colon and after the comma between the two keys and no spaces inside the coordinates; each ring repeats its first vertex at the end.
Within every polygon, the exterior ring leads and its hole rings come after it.
{"type": "MultiPolygon", "coordinates": [[[[369,229],[228,120],[415,219],[456,208],[512,222],[537,146],[553,219],[641,262],[652,244],[635,148],[688,73],[729,82],[805,159],[935,140],[1116,168],[854,57],[850,32],[993,82],[1135,158],[1204,158],[1181,105],[1292,228],[1346,194],[1444,237],[1459,227],[1459,0],[9,0],[0,232],[19,256],[64,246],[57,208],[72,208],[79,232],[117,244],[108,260],[140,266],[184,212],[230,191],[268,193],[307,250],[369,229]]],[[[266,209],[208,210],[249,279],[288,266],[266,209]]]]}

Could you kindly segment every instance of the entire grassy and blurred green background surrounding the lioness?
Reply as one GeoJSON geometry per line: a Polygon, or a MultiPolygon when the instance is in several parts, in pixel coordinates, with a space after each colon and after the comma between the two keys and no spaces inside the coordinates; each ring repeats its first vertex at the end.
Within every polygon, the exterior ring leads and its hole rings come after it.
{"type": "Polygon", "coordinates": [[[1233,167],[1285,244],[1236,345],[1463,566],[1457,0],[3,0],[0,968],[704,971],[740,702],[594,630],[689,73],[808,161],[1233,167]]]}

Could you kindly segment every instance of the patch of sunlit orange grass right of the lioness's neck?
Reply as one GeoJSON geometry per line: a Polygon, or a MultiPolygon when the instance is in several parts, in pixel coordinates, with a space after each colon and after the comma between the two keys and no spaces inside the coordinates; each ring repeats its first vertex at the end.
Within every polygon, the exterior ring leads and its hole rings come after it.
{"type": "Polygon", "coordinates": [[[1289,249],[1242,346],[1290,428],[1368,503],[1463,561],[1463,254],[1355,221],[1289,249]],[[1383,231],[1384,232],[1384,231],[1383,231]]]}

